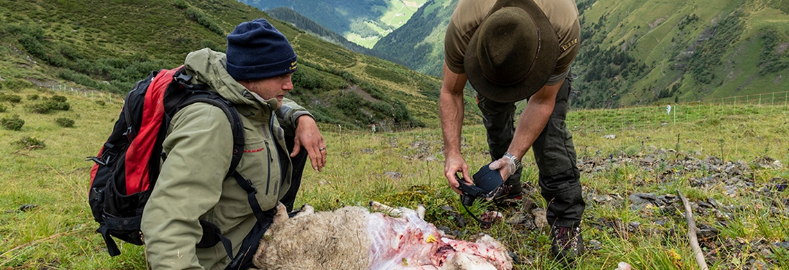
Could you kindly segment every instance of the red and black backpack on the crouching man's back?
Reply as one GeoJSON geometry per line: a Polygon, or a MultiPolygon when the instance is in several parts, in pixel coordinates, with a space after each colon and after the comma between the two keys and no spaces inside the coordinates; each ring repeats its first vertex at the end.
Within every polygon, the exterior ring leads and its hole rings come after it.
{"type": "MultiPolygon", "coordinates": [[[[181,108],[197,102],[219,107],[227,115],[233,129],[233,156],[226,177],[236,178],[249,193],[249,204],[258,223],[267,224],[264,221],[269,215],[260,209],[252,182],[235,170],[244,153],[244,126],[238,112],[233,103],[216,92],[205,91],[203,85],[192,84],[191,79],[181,66],[151,72],[147,78],[138,81],[126,96],[120,117],[99,155],[88,157],[95,162],[91,169],[88,203],[93,218],[99,223],[96,232],[102,234],[110,256],[121,253],[112,237],[134,245],[144,244],[140,223],[145,203],[159,176],[160,163],[166,159],[162,144],[170,119],[181,108]]],[[[203,227],[203,238],[197,247],[208,248],[222,242],[228,256],[234,258],[230,241],[222,236],[219,227],[205,221],[200,221],[200,226],[203,227]]],[[[256,228],[265,231],[267,226],[256,228]]],[[[262,232],[257,233],[262,236],[262,232]]],[[[236,257],[239,256],[241,254],[236,257]]]]}

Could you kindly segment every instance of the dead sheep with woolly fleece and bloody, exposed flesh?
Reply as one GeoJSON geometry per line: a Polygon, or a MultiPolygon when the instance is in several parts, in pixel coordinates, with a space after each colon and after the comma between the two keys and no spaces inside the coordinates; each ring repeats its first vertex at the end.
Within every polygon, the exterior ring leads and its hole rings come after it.
{"type": "Polygon", "coordinates": [[[279,204],[252,261],[260,269],[512,268],[507,249],[488,235],[454,240],[416,211],[394,210],[399,217],[351,206],[314,212],[305,205],[288,219],[279,204]]]}

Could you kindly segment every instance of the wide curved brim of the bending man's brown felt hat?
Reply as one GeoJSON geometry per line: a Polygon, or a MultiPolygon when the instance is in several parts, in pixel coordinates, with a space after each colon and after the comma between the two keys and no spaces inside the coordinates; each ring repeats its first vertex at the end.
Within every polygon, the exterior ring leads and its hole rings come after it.
{"type": "Polygon", "coordinates": [[[515,102],[534,95],[548,82],[559,59],[559,39],[556,32],[554,32],[551,22],[548,21],[548,17],[532,0],[499,0],[491,9],[491,13],[488,13],[488,17],[495,11],[509,6],[521,8],[529,13],[539,29],[540,51],[534,60],[532,70],[522,81],[515,84],[502,85],[489,81],[482,73],[476,50],[479,43],[479,31],[474,32],[474,35],[471,36],[463,60],[466,77],[469,78],[471,86],[482,96],[498,102],[515,102]]]}

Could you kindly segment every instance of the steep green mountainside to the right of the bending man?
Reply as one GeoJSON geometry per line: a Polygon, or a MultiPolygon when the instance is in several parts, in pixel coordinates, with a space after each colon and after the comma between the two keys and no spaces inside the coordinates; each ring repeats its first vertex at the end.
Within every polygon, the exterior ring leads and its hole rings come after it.
{"type": "Polygon", "coordinates": [[[691,102],[782,91],[785,51],[765,46],[765,32],[787,41],[783,2],[578,1],[583,36],[574,73],[583,107],[691,102]],[[593,3],[593,4],[592,4],[593,3]],[[687,20],[693,17],[693,20],[687,20]],[[695,20],[697,18],[697,20],[695,20]],[[735,26],[738,25],[738,26],[735,26]],[[712,35],[712,33],[715,33],[712,35]],[[614,49],[645,65],[644,73],[604,69],[614,49]],[[769,54],[771,61],[760,62],[769,54]],[[690,58],[690,61],[688,60],[690,58]],[[606,71],[599,78],[600,70],[606,71]],[[620,72],[621,71],[621,72],[620,72]],[[589,81],[588,81],[589,80],[589,81]],[[669,92],[671,90],[671,92],[669,92]],[[662,93],[661,93],[662,92],[662,93]]]}

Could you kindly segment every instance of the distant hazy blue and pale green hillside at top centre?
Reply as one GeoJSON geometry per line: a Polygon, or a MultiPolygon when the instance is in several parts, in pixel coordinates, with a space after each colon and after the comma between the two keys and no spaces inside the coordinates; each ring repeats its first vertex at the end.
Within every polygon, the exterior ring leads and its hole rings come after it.
{"type": "Polygon", "coordinates": [[[383,36],[408,21],[425,0],[238,0],[262,10],[286,7],[344,36],[372,48],[383,36]]]}

